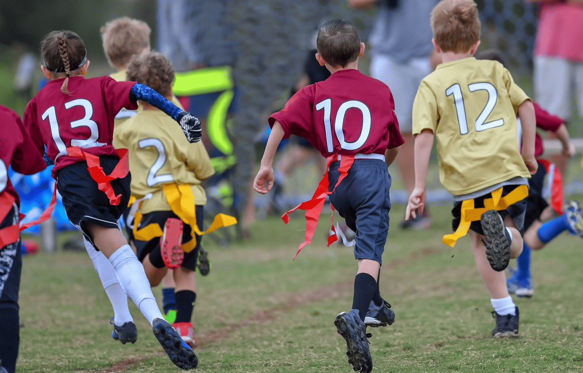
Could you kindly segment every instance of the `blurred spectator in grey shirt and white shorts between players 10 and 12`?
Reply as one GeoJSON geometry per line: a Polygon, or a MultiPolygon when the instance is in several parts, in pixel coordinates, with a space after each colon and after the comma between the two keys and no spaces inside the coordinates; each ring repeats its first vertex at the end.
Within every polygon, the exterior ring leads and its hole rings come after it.
{"type": "MultiPolygon", "coordinates": [[[[405,144],[397,156],[403,184],[408,194],[415,188],[413,164],[412,109],[417,87],[437,65],[429,18],[437,0],[349,0],[354,8],[378,3],[378,15],[368,45],[371,48],[370,74],[394,92],[395,112],[405,144]]],[[[423,229],[432,223],[427,208],[417,218],[402,221],[402,229],[423,229]]]]}

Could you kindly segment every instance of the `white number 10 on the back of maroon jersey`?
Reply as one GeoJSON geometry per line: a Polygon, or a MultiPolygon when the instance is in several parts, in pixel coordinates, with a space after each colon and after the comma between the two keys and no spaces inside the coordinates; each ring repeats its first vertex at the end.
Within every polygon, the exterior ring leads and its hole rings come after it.
{"type": "MultiPolygon", "coordinates": [[[[334,150],[332,143],[332,123],[330,122],[330,114],[332,111],[332,99],[326,98],[326,100],[318,102],[316,104],[316,110],[320,111],[324,109],[324,129],[326,131],[326,145],[328,147],[328,152],[331,153],[334,150]]],[[[340,148],[345,150],[357,150],[360,148],[368,138],[370,134],[371,127],[371,114],[368,106],[361,101],[350,100],[343,102],[339,106],[338,112],[336,112],[336,120],[334,121],[334,132],[336,133],[336,138],[340,143],[340,148]],[[346,116],[346,111],[348,109],[356,108],[359,109],[363,115],[362,128],[360,130],[360,136],[354,143],[349,143],[344,137],[344,117],[346,116]]]]}

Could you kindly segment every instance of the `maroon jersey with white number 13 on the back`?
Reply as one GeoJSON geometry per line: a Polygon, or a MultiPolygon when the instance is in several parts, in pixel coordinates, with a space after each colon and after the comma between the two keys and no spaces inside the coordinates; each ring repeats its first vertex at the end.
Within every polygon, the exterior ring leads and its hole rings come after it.
{"type": "Polygon", "coordinates": [[[55,161],[53,177],[64,166],[82,162],[67,155],[66,148],[71,146],[94,155],[117,157],[111,145],[115,115],[122,108],[138,108],[136,101],[129,98],[135,81],[74,76],[68,83],[71,94],[64,94],[63,80],[49,81],[24,111],[24,125],[38,150],[44,152],[46,145],[48,157],[55,161]]]}

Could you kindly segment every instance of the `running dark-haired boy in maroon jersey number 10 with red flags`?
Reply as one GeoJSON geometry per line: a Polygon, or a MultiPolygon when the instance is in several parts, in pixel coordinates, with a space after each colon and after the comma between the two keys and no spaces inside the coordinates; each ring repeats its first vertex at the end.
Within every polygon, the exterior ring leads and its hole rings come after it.
{"type": "MultiPolygon", "coordinates": [[[[273,156],[282,138],[290,134],[306,138],[328,158],[329,171],[314,198],[299,207],[317,204],[318,211],[307,207],[306,212],[317,221],[329,195],[333,208],[356,232],[354,257],[358,271],[352,309],[341,312],[334,324],[346,340],[346,354],[353,369],[370,372],[373,359],[366,326],[395,321],[391,305],[381,297],[378,279],[391,209],[387,165],[394,161],[403,138],[391,90],[358,70],[364,43],[356,27],[347,20],[329,20],[318,32],[317,48],[316,59],[332,75],[301,88],[281,111],[269,117],[272,131],[253,187],[263,194],[272,189],[273,156]]],[[[311,241],[314,228],[315,224],[307,229],[304,244],[311,241]]]]}

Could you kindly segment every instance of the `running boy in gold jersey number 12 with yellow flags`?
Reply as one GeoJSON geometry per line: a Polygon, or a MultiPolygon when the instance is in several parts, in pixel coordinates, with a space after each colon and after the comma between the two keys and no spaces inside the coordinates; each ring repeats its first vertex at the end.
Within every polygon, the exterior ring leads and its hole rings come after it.
{"type": "Polygon", "coordinates": [[[425,77],[413,105],[415,190],[405,218],[423,213],[434,136],[440,180],[454,196],[444,243],[469,230],[476,267],[496,312],[494,338],[517,338],[518,307],[504,269],[522,251],[528,179],[535,173],[535,112],[501,63],[478,61],[480,20],[473,0],[443,0],[431,12],[433,44],[442,63],[425,77]],[[517,113],[522,122],[519,150],[517,113]]]}

